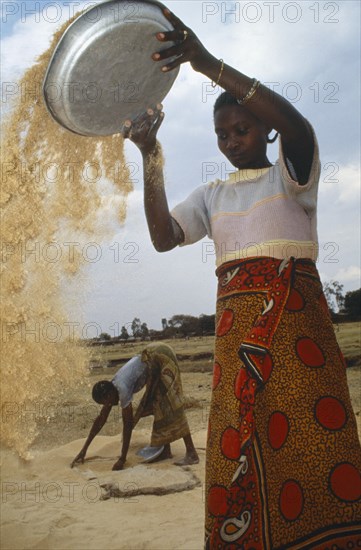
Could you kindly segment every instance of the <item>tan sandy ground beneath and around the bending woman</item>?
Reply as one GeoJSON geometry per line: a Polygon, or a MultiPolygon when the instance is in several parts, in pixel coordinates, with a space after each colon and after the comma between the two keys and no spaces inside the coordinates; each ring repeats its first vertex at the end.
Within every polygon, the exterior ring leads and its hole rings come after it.
{"type": "MultiPolygon", "coordinates": [[[[100,378],[104,373],[93,375],[90,385],[100,378]]],[[[182,441],[172,444],[173,459],[141,464],[136,452],[149,444],[151,418],[146,418],[133,435],[127,468],[111,472],[120,447],[116,412],[104,435],[93,441],[85,464],[70,469],[98,408],[87,388],[69,394],[41,426],[32,460],[2,451],[2,550],[200,550],[211,374],[184,372],[182,380],[198,465],[173,464],[184,454],[182,441]],[[109,488],[122,496],[108,498],[109,488]],[[167,494],[138,494],[149,488],[167,494]]],[[[360,367],[348,369],[348,380],[361,433],[360,367]]]]}

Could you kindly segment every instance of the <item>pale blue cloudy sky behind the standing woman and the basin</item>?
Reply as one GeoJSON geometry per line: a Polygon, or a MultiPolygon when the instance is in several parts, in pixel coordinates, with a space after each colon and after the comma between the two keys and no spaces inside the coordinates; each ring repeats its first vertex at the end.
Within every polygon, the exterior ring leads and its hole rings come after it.
{"type": "MultiPolygon", "coordinates": [[[[323,282],[344,291],[360,287],[360,2],[186,1],[166,5],[217,58],[284,95],[312,123],[320,146],[318,203],[323,282]]],[[[96,2],[1,1],[1,66],[4,83],[16,82],[45,51],[52,34],[74,10],[96,2]]],[[[131,4],[131,2],[129,3],[131,4]]],[[[158,138],[172,208],[199,185],[223,179],[231,165],[217,149],[212,109],[219,88],[183,65],[163,100],[165,120],[158,138]]],[[[4,101],[4,99],[2,98],[4,101]]],[[[269,158],[277,159],[277,145],[269,158]]],[[[127,218],[112,239],[100,243],[90,262],[83,322],[115,336],[134,317],[161,328],[175,314],[215,311],[215,258],[209,238],[167,253],[150,242],[143,209],[142,163],[126,143],[134,191],[127,218]]],[[[79,289],[67,290],[70,310],[79,289]]],[[[92,332],[93,331],[93,332],[92,332]]]]}

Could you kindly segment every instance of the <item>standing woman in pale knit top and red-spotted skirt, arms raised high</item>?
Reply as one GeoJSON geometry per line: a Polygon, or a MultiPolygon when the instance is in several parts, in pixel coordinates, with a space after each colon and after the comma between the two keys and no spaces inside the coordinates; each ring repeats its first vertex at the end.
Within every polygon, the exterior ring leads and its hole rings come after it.
{"type": "Polygon", "coordinates": [[[206,547],[361,546],[361,452],[345,363],[316,269],[317,140],[284,98],[208,53],[166,11],[176,40],[155,53],[190,61],[225,92],[218,146],[236,171],[197,188],[170,213],[157,130],[161,106],[126,121],[144,161],[154,246],[214,240],[218,298],[207,442],[206,547]],[[267,143],[280,135],[272,165],[267,143]]]}

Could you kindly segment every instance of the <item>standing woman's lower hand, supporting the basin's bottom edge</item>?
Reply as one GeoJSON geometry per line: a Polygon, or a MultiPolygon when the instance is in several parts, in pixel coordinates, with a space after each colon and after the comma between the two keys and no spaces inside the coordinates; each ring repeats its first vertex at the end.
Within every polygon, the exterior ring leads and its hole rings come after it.
{"type": "Polygon", "coordinates": [[[146,113],[139,115],[135,120],[126,120],[122,135],[130,139],[142,152],[142,154],[153,151],[157,144],[157,132],[164,120],[162,105],[156,109],[148,109],[146,113]]]}

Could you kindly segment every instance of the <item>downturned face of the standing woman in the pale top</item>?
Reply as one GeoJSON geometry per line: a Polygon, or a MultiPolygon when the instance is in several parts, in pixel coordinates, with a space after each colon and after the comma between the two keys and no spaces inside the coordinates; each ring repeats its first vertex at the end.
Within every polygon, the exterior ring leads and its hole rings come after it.
{"type": "Polygon", "coordinates": [[[240,105],[224,105],[214,115],[218,147],[238,169],[264,168],[267,159],[267,128],[240,105]]]}

